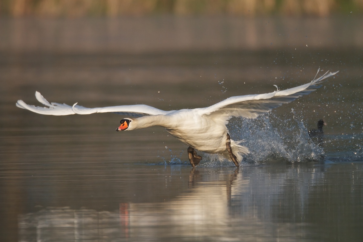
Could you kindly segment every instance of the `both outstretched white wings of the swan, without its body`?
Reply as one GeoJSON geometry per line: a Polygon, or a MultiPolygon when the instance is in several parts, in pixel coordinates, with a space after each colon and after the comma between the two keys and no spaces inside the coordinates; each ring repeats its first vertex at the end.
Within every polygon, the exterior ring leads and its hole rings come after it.
{"type": "MultiPolygon", "coordinates": [[[[301,86],[286,90],[277,89],[272,93],[230,97],[212,106],[196,108],[195,110],[197,110],[200,115],[218,115],[226,120],[231,118],[231,116],[256,118],[258,115],[269,112],[273,108],[279,107],[284,103],[292,102],[302,95],[311,93],[311,91],[314,91],[319,87],[319,83],[321,83],[324,79],[335,75],[336,73],[338,73],[338,71],[334,73],[327,71],[319,78],[316,78],[315,75],[313,81],[301,86]]],[[[144,104],[86,108],[77,105],[77,103],[75,103],[73,106],[54,102],[49,103],[38,91],[36,91],[35,97],[46,107],[28,105],[23,100],[17,101],[16,106],[36,112],[38,114],[58,116],[71,114],[92,114],[97,112],[117,112],[122,115],[140,117],[158,114],[168,115],[177,111],[164,111],[144,104]]]]}

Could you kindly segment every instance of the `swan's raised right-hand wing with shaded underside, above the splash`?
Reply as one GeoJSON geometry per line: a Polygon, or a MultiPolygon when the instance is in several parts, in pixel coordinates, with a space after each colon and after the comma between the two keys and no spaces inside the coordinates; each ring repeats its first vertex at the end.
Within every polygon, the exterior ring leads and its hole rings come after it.
{"type": "Polygon", "coordinates": [[[225,120],[230,119],[232,116],[253,119],[261,114],[271,111],[273,108],[281,106],[284,103],[292,102],[302,95],[315,91],[320,87],[318,85],[323,80],[338,73],[338,71],[334,73],[328,72],[329,71],[319,78],[316,78],[318,75],[317,73],[313,81],[306,83],[305,85],[283,91],[277,89],[272,93],[230,97],[212,106],[199,108],[199,111],[204,115],[222,116],[225,120]]]}

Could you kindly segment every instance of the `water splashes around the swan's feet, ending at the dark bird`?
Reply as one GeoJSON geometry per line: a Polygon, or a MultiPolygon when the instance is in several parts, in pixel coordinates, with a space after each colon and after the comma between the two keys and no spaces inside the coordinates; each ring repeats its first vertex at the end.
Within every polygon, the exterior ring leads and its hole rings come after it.
{"type": "MultiPolygon", "coordinates": [[[[272,164],[277,162],[319,161],[325,156],[308,135],[302,117],[289,114],[290,118],[279,118],[273,113],[256,119],[232,118],[228,124],[229,133],[234,140],[245,140],[241,145],[249,148],[250,154],[244,156],[241,166],[272,164]],[[292,118],[291,118],[292,116],[292,118]]],[[[168,147],[160,154],[165,165],[189,165],[187,155],[181,151],[174,155],[168,147]]],[[[234,167],[222,155],[199,152],[203,160],[200,167],[234,167]]]]}

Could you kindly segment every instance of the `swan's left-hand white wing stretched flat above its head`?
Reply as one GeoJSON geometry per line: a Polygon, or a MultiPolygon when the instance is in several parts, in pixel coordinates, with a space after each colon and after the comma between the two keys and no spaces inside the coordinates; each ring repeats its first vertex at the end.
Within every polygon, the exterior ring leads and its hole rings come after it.
{"type": "Polygon", "coordinates": [[[71,114],[93,114],[96,112],[116,112],[118,114],[126,116],[140,117],[145,115],[168,114],[169,112],[172,112],[160,110],[158,108],[143,104],[87,108],[79,106],[77,105],[77,103],[75,103],[73,106],[61,103],[49,103],[38,91],[35,92],[35,97],[40,103],[44,104],[46,107],[36,107],[33,105],[28,105],[23,100],[18,100],[16,106],[30,110],[32,112],[36,112],[37,114],[56,116],[71,114]]]}

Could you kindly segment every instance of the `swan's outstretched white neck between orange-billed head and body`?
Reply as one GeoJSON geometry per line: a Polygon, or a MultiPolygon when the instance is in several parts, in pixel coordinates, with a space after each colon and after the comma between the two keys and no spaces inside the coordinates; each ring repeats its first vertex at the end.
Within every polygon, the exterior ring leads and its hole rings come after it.
{"type": "Polygon", "coordinates": [[[148,128],[151,126],[161,126],[164,128],[172,128],[173,124],[171,118],[167,115],[150,115],[150,116],[142,116],[140,118],[136,118],[133,120],[133,128],[132,130],[136,130],[139,128],[148,128]]]}

